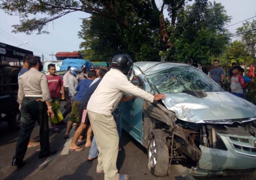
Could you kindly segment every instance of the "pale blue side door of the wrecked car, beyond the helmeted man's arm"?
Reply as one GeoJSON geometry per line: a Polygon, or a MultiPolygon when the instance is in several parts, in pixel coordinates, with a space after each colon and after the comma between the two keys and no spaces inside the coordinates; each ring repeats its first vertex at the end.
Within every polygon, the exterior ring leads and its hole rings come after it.
{"type": "MultiPolygon", "coordinates": [[[[137,77],[138,78],[138,77],[137,77]]],[[[141,79],[135,78],[133,84],[138,88],[143,89],[143,82],[141,79]]],[[[121,103],[122,107],[122,127],[128,132],[134,139],[142,143],[142,105],[141,98],[135,97],[134,99],[121,103]]]]}

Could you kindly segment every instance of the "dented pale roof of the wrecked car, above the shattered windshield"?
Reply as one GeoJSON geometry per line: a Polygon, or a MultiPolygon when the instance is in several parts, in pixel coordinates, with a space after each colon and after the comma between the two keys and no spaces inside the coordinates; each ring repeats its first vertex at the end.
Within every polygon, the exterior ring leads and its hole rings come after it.
{"type": "Polygon", "coordinates": [[[189,66],[184,63],[176,62],[153,62],[153,61],[140,61],[133,63],[135,66],[134,71],[135,75],[139,75],[143,72],[145,75],[151,75],[156,72],[161,72],[166,69],[170,69],[177,66],[189,66]]]}

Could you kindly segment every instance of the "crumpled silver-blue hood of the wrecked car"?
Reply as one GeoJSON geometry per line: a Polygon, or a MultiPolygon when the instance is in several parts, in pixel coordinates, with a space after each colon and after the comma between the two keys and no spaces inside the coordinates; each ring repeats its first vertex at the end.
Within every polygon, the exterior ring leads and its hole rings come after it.
{"type": "Polygon", "coordinates": [[[193,123],[234,123],[256,119],[256,106],[229,92],[206,92],[197,98],[186,93],[165,94],[166,108],[177,118],[193,123]]]}

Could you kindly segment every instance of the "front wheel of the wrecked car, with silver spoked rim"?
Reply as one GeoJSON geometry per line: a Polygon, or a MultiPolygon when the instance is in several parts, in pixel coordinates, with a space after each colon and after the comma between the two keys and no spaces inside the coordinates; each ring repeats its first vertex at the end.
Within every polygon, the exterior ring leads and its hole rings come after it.
{"type": "Polygon", "coordinates": [[[166,137],[161,129],[154,129],[152,134],[147,148],[148,169],[155,176],[166,176],[169,166],[166,137]]]}

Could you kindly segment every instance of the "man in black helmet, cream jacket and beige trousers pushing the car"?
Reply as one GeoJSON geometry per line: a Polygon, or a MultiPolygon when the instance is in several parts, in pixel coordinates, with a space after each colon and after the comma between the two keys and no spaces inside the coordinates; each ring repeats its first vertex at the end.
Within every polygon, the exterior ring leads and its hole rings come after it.
{"type": "Polygon", "coordinates": [[[133,62],[128,55],[115,55],[112,60],[113,69],[105,74],[87,105],[99,150],[96,173],[104,172],[105,180],[127,180],[129,178],[128,174],[118,174],[116,167],[119,137],[112,115],[123,94],[131,94],[151,102],[166,97],[163,94],[152,95],[130,83],[126,75],[132,65],[133,62]]]}

